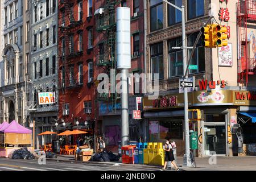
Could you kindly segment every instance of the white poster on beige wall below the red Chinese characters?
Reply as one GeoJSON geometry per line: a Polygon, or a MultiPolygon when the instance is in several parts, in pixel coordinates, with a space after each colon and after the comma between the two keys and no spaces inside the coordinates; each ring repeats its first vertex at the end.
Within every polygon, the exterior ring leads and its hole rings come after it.
{"type": "Polygon", "coordinates": [[[232,67],[232,44],[228,43],[228,46],[218,48],[218,65],[220,67],[232,67]]]}

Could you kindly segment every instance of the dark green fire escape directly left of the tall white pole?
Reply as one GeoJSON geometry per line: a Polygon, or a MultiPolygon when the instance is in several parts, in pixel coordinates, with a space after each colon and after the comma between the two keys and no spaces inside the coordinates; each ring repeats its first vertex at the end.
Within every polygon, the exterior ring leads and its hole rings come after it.
{"type": "MultiPolygon", "coordinates": [[[[114,73],[117,72],[115,67],[115,38],[116,38],[116,23],[115,23],[115,9],[121,1],[106,0],[105,5],[102,7],[104,12],[97,16],[97,32],[104,34],[104,41],[98,46],[97,66],[104,67],[105,73],[110,78],[110,70],[113,69],[114,73]]],[[[115,78],[115,74],[112,75],[115,78]]],[[[115,81],[116,82],[116,81],[115,81]]],[[[98,101],[113,101],[115,102],[119,97],[117,93],[98,93],[98,101]]]]}

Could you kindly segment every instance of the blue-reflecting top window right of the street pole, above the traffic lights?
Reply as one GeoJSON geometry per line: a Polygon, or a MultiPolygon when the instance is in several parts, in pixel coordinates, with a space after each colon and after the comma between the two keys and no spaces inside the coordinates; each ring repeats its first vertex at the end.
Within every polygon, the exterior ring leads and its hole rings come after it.
{"type": "Polygon", "coordinates": [[[187,0],[188,19],[204,15],[204,0],[187,0]]]}

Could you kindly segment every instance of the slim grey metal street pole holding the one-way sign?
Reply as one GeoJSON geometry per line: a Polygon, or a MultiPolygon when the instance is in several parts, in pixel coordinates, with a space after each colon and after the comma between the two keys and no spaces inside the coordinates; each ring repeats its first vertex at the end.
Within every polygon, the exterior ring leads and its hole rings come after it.
{"type": "MultiPolygon", "coordinates": [[[[187,70],[187,38],[185,33],[185,6],[177,7],[176,5],[163,0],[168,5],[175,7],[175,9],[180,10],[182,14],[182,49],[183,49],[183,73],[184,80],[187,80],[188,76],[185,74],[187,70]]],[[[185,156],[187,167],[192,166],[190,160],[190,146],[189,146],[189,123],[188,123],[188,88],[184,87],[184,123],[185,123],[185,156]]]]}

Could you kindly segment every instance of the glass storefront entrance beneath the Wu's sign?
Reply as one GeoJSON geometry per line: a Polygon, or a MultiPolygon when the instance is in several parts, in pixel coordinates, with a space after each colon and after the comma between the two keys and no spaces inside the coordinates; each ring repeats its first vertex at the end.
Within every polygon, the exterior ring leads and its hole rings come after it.
{"type": "Polygon", "coordinates": [[[204,122],[205,155],[226,155],[226,114],[208,114],[204,122]]]}

